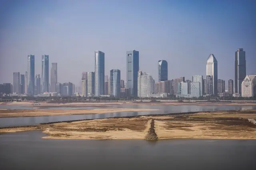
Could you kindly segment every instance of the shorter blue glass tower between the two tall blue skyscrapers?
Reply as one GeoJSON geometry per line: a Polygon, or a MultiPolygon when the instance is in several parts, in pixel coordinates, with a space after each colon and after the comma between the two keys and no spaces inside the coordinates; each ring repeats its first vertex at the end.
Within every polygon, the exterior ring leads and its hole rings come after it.
{"type": "Polygon", "coordinates": [[[118,69],[110,70],[110,96],[120,97],[121,72],[118,69]]]}

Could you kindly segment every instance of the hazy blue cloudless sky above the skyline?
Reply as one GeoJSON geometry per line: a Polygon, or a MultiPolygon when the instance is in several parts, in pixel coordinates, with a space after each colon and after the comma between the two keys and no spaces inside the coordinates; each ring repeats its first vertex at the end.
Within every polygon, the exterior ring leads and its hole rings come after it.
{"type": "MultiPolygon", "coordinates": [[[[206,75],[206,60],[218,60],[218,78],[234,79],[237,48],[246,51],[246,73],[256,74],[255,0],[1,0],[0,83],[27,70],[35,55],[58,63],[58,82],[78,85],[94,71],[94,51],[105,53],[105,75],[121,70],[126,51],[140,52],[140,69],[157,81],[158,60],[168,79],[206,75]]],[[[51,67],[51,66],[50,66],[51,67]]]]}

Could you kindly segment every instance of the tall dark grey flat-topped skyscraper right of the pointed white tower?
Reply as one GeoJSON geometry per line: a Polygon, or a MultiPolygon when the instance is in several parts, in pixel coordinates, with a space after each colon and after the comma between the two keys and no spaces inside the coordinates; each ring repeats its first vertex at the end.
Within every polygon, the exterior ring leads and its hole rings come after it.
{"type": "Polygon", "coordinates": [[[242,81],[246,77],[246,59],[245,51],[242,48],[238,48],[235,53],[235,93],[242,94],[242,81]]]}

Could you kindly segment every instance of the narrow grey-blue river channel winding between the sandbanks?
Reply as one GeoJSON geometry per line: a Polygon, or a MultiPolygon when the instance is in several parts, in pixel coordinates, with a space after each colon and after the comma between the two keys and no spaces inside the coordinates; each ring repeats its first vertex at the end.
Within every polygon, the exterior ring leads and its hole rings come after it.
{"type": "Polygon", "coordinates": [[[103,113],[103,114],[90,114],[90,115],[6,117],[6,118],[0,118],[0,127],[19,126],[19,125],[36,125],[39,123],[81,120],[81,119],[104,119],[108,117],[126,117],[126,116],[168,114],[168,113],[182,113],[182,112],[184,113],[184,112],[195,112],[195,111],[248,110],[248,109],[256,109],[256,106],[110,105],[109,108],[160,109],[160,110],[159,111],[116,112],[116,113],[103,113]]]}

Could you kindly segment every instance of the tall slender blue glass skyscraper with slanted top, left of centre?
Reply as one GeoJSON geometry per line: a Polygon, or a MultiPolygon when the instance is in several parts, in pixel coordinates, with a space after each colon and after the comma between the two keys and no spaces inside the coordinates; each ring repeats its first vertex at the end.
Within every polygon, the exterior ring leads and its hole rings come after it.
{"type": "Polygon", "coordinates": [[[105,54],[95,51],[95,96],[104,95],[105,54]]]}

